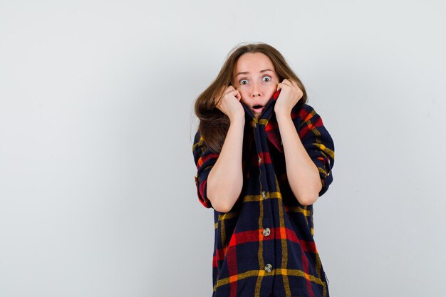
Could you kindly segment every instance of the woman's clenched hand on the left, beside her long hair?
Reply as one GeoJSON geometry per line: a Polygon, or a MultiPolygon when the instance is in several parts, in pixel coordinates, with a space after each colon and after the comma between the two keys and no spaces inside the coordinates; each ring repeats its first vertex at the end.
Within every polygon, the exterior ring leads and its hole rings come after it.
{"type": "Polygon", "coordinates": [[[242,96],[239,91],[236,90],[232,85],[228,87],[222,87],[222,92],[219,98],[217,98],[217,108],[222,110],[222,113],[228,116],[229,120],[243,119],[244,120],[244,109],[240,99],[242,96]]]}

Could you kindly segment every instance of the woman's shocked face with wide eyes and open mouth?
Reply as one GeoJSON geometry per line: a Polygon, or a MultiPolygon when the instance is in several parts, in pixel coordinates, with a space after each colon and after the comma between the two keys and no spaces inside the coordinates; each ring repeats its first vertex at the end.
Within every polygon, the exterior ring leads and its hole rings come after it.
{"type": "Polygon", "coordinates": [[[266,103],[276,93],[279,77],[264,53],[244,53],[235,64],[233,81],[242,103],[259,119],[266,103]]]}

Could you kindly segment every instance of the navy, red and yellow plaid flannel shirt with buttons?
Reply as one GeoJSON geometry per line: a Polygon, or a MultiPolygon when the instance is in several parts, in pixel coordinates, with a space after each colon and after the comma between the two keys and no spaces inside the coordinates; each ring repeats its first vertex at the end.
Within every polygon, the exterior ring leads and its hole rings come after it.
{"type": "MultiPolygon", "coordinates": [[[[299,204],[286,178],[284,147],[274,114],[275,93],[259,120],[244,106],[242,193],[231,211],[214,210],[214,297],[328,296],[313,240],[313,205],[299,204]]],[[[333,181],[334,144],[321,117],[310,105],[291,111],[299,138],[318,167],[323,187],[333,181]]],[[[192,152],[197,165],[197,195],[204,207],[207,176],[218,153],[207,149],[199,132],[192,152]]]]}

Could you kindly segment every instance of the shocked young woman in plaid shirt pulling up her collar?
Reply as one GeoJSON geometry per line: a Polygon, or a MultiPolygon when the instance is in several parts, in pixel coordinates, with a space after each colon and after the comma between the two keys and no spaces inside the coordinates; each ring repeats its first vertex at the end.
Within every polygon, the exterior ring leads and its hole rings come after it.
{"type": "Polygon", "coordinates": [[[334,145],[284,57],[234,48],[199,95],[197,195],[214,209],[212,296],[328,296],[313,203],[333,181],[334,145]]]}

